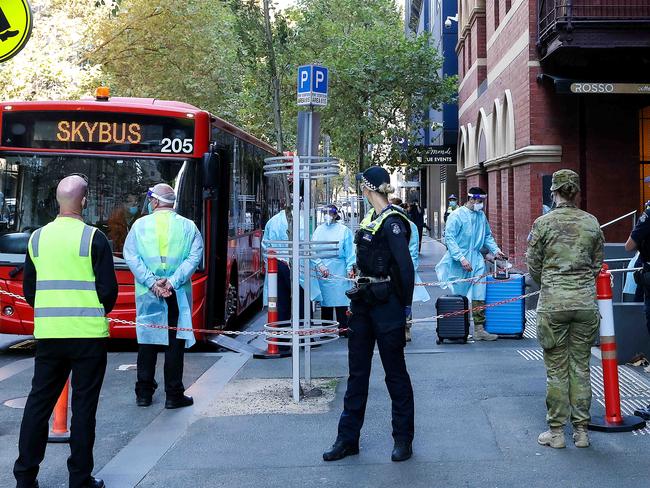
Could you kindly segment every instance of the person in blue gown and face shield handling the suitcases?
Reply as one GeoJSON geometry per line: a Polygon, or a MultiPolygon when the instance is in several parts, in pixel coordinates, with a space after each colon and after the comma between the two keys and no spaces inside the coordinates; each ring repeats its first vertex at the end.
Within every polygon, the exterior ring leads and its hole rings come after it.
{"type": "MultiPolygon", "coordinates": [[[[470,188],[467,203],[452,212],[445,228],[447,252],[436,265],[438,280],[443,282],[478,277],[485,274],[485,261],[481,249],[486,247],[499,259],[506,256],[497,245],[490,224],[483,212],[487,194],[481,188],[470,188]]],[[[477,280],[483,281],[483,280],[477,280]]],[[[472,307],[485,305],[485,284],[465,281],[443,284],[454,295],[465,295],[472,301],[472,307]]],[[[485,310],[472,312],[474,318],[474,340],[494,341],[495,334],[485,331],[485,310]]]]}

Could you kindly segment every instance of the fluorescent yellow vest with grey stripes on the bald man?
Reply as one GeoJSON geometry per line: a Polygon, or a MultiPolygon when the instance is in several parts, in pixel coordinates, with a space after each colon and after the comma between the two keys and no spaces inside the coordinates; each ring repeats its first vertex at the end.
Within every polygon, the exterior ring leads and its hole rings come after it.
{"type": "Polygon", "coordinates": [[[108,337],[91,255],[96,230],[81,220],[57,217],[30,237],[29,256],[36,268],[36,339],[108,337]]]}

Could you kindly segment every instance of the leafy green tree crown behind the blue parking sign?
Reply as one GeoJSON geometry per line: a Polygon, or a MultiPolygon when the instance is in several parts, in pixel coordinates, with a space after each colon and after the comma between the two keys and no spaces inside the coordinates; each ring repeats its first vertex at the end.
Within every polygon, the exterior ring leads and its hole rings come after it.
{"type": "Polygon", "coordinates": [[[411,163],[401,141],[429,123],[424,107],[439,108],[455,91],[454,78],[441,78],[442,60],[427,37],[404,35],[392,0],[299,0],[288,17],[293,36],[284,64],[285,113],[296,111],[297,66],[320,62],[330,68],[322,127],[334,154],[360,169],[370,158],[411,163]]]}

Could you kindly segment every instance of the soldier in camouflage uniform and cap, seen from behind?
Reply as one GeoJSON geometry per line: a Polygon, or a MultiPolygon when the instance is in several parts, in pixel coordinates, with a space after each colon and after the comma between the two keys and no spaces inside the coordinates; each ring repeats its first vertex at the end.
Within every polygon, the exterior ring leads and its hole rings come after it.
{"type": "Polygon", "coordinates": [[[589,447],[589,358],[600,324],[596,276],[603,263],[604,238],[596,218],[576,207],[579,191],[575,172],[553,173],[556,207],[535,221],[528,236],[528,270],[541,287],[537,338],[544,349],[550,427],[537,441],[554,448],[566,446],[569,418],[575,445],[589,447]]]}

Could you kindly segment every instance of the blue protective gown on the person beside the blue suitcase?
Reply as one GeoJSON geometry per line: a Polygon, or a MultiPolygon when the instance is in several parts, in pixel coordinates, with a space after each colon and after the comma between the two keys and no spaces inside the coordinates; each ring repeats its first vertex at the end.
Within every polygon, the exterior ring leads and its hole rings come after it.
{"type": "MultiPolygon", "coordinates": [[[[436,265],[439,281],[483,275],[485,261],[481,249],[487,247],[493,254],[500,251],[485,213],[482,210],[470,210],[465,206],[449,214],[445,227],[445,243],[447,252],[436,265]],[[472,271],[463,269],[460,264],[463,258],[472,265],[472,271]]],[[[462,282],[453,285],[442,284],[441,288],[449,288],[454,295],[465,295],[470,300],[485,300],[485,284],[462,282]]]]}

